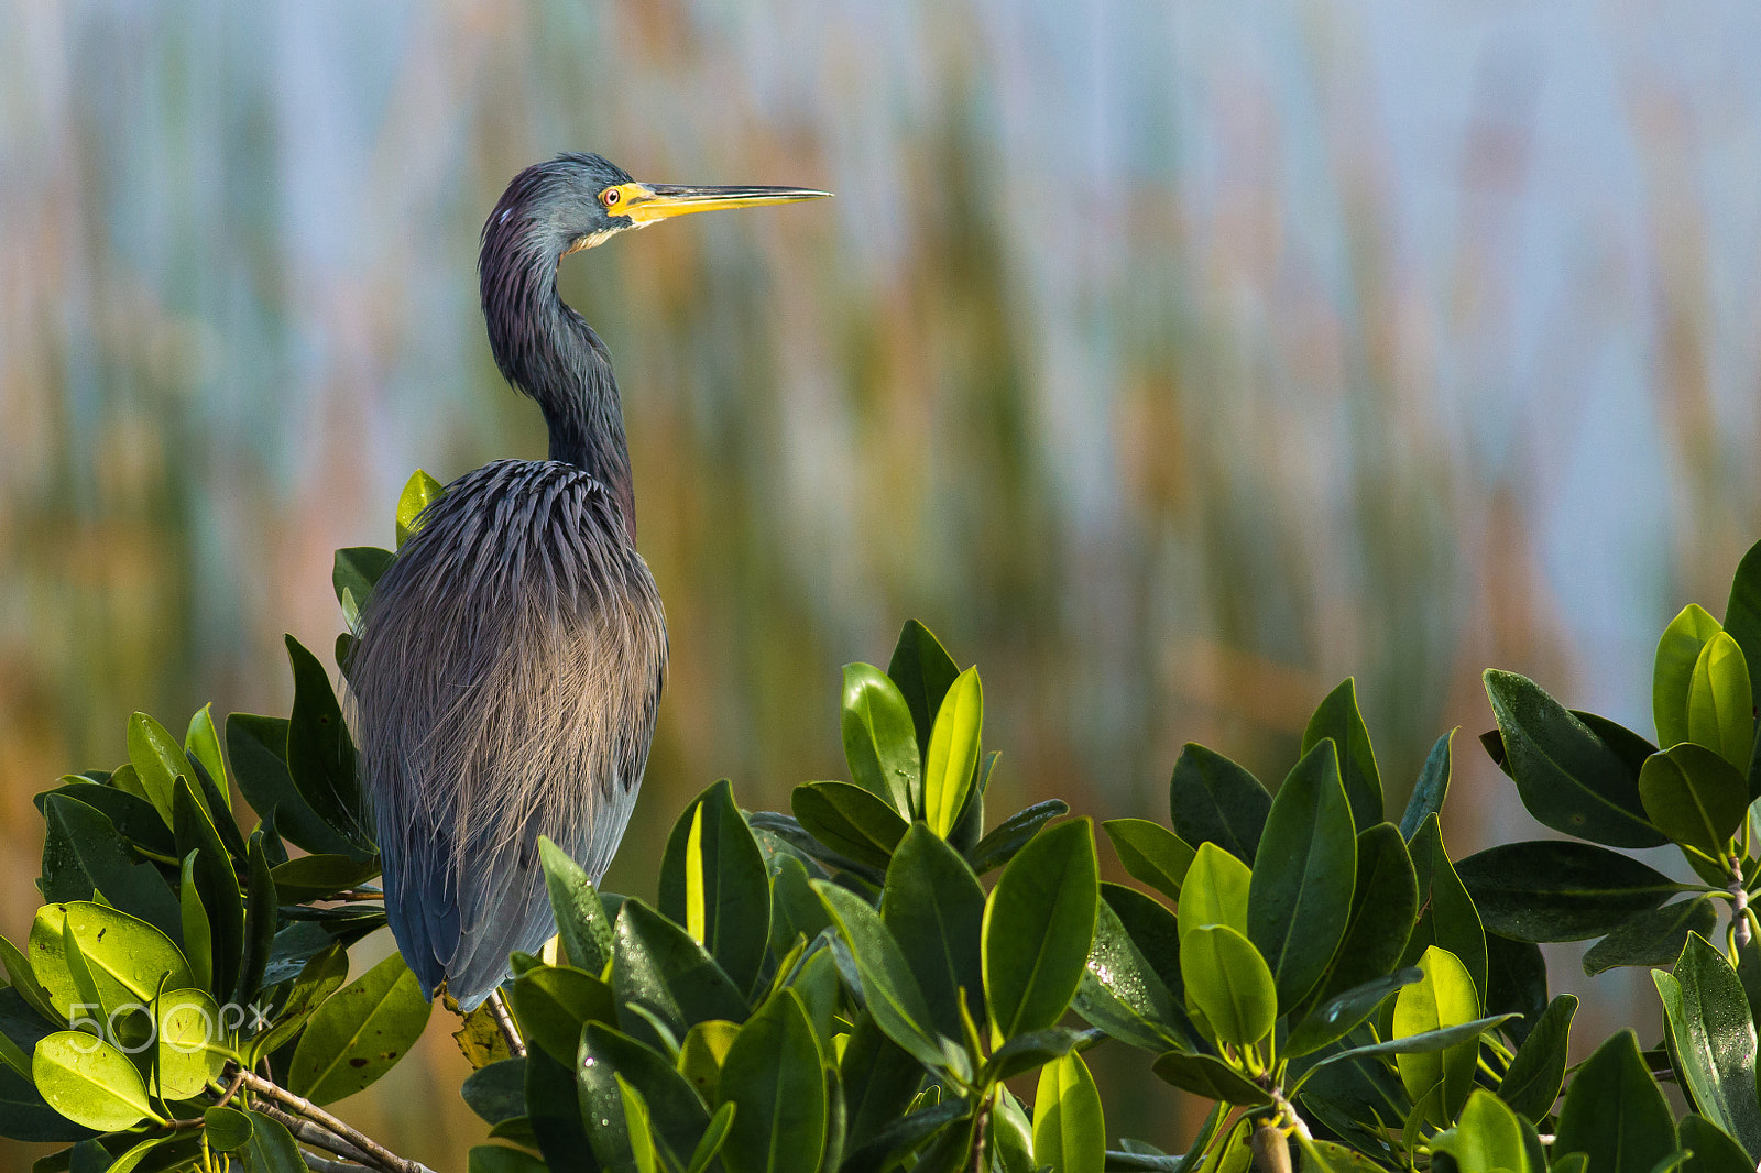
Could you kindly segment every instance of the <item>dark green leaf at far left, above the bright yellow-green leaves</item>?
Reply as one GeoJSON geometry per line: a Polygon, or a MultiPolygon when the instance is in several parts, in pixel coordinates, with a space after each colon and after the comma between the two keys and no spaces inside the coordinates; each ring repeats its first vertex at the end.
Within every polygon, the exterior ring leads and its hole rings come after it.
{"type": "Polygon", "coordinates": [[[183,912],[151,863],[137,861],[102,812],[55,794],[44,801],[44,898],[92,900],[93,891],[173,941],[183,937],[183,912]]]}

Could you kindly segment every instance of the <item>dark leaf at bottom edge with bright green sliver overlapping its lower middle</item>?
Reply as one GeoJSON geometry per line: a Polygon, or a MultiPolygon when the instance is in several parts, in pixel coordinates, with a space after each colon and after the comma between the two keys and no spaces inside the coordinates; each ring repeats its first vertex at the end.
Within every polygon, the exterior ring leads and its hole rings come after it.
{"type": "Polygon", "coordinates": [[[683,1168],[710,1125],[710,1111],[690,1081],[653,1048],[597,1022],[579,1032],[578,1048],[581,1118],[601,1168],[629,1168],[630,1132],[622,1113],[618,1076],[648,1104],[662,1161],[669,1168],[683,1168]]]}

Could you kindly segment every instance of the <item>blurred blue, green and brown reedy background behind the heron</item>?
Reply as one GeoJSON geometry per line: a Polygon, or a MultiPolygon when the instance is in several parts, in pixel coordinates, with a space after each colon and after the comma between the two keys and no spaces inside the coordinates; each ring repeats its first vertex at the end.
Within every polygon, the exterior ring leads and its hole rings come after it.
{"type": "MultiPolygon", "coordinates": [[[[33,793],[137,708],[285,713],[410,470],[544,454],[475,248],[560,150],[838,194],[564,264],[673,639],[609,888],[717,777],[844,777],[838,666],[910,616],[983,668],[993,810],[1166,819],[1189,740],[1275,784],[1354,675],[1391,803],[1463,726],[1462,856],[1537,830],[1483,668],[1652,731],[1761,537],[1761,9],[764,7],[0,4],[0,930],[33,793]]],[[[1654,1020],[1580,953],[1587,1032],[1654,1020]]],[[[343,1115],[458,1169],[442,1018],[343,1115]]],[[[1183,1143],[1099,1055],[1108,1131],[1183,1143]]]]}

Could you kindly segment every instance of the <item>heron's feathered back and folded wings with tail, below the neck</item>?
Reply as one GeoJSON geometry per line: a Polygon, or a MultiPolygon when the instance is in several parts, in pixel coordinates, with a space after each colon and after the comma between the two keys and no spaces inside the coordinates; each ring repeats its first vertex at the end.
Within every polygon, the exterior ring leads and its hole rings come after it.
{"type": "Polygon", "coordinates": [[[539,835],[604,874],[664,671],[653,578],[597,481],[498,461],[424,513],[368,601],[350,689],[387,914],[428,988],[438,967],[474,1006],[553,932],[539,835]]]}

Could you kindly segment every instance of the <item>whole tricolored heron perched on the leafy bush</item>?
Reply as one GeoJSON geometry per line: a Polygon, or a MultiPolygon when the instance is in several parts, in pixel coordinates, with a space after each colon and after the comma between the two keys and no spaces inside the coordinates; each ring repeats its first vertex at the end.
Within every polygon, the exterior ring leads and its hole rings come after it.
{"type": "Polygon", "coordinates": [[[556,266],[669,217],[826,194],[637,183],[560,155],[521,171],[483,225],[490,349],[542,409],[549,460],[446,488],[373,588],[349,664],[386,916],[426,995],[444,983],[474,1009],[509,951],[555,932],[541,835],[604,875],[666,678],[611,356],[564,305],[556,266]]]}

